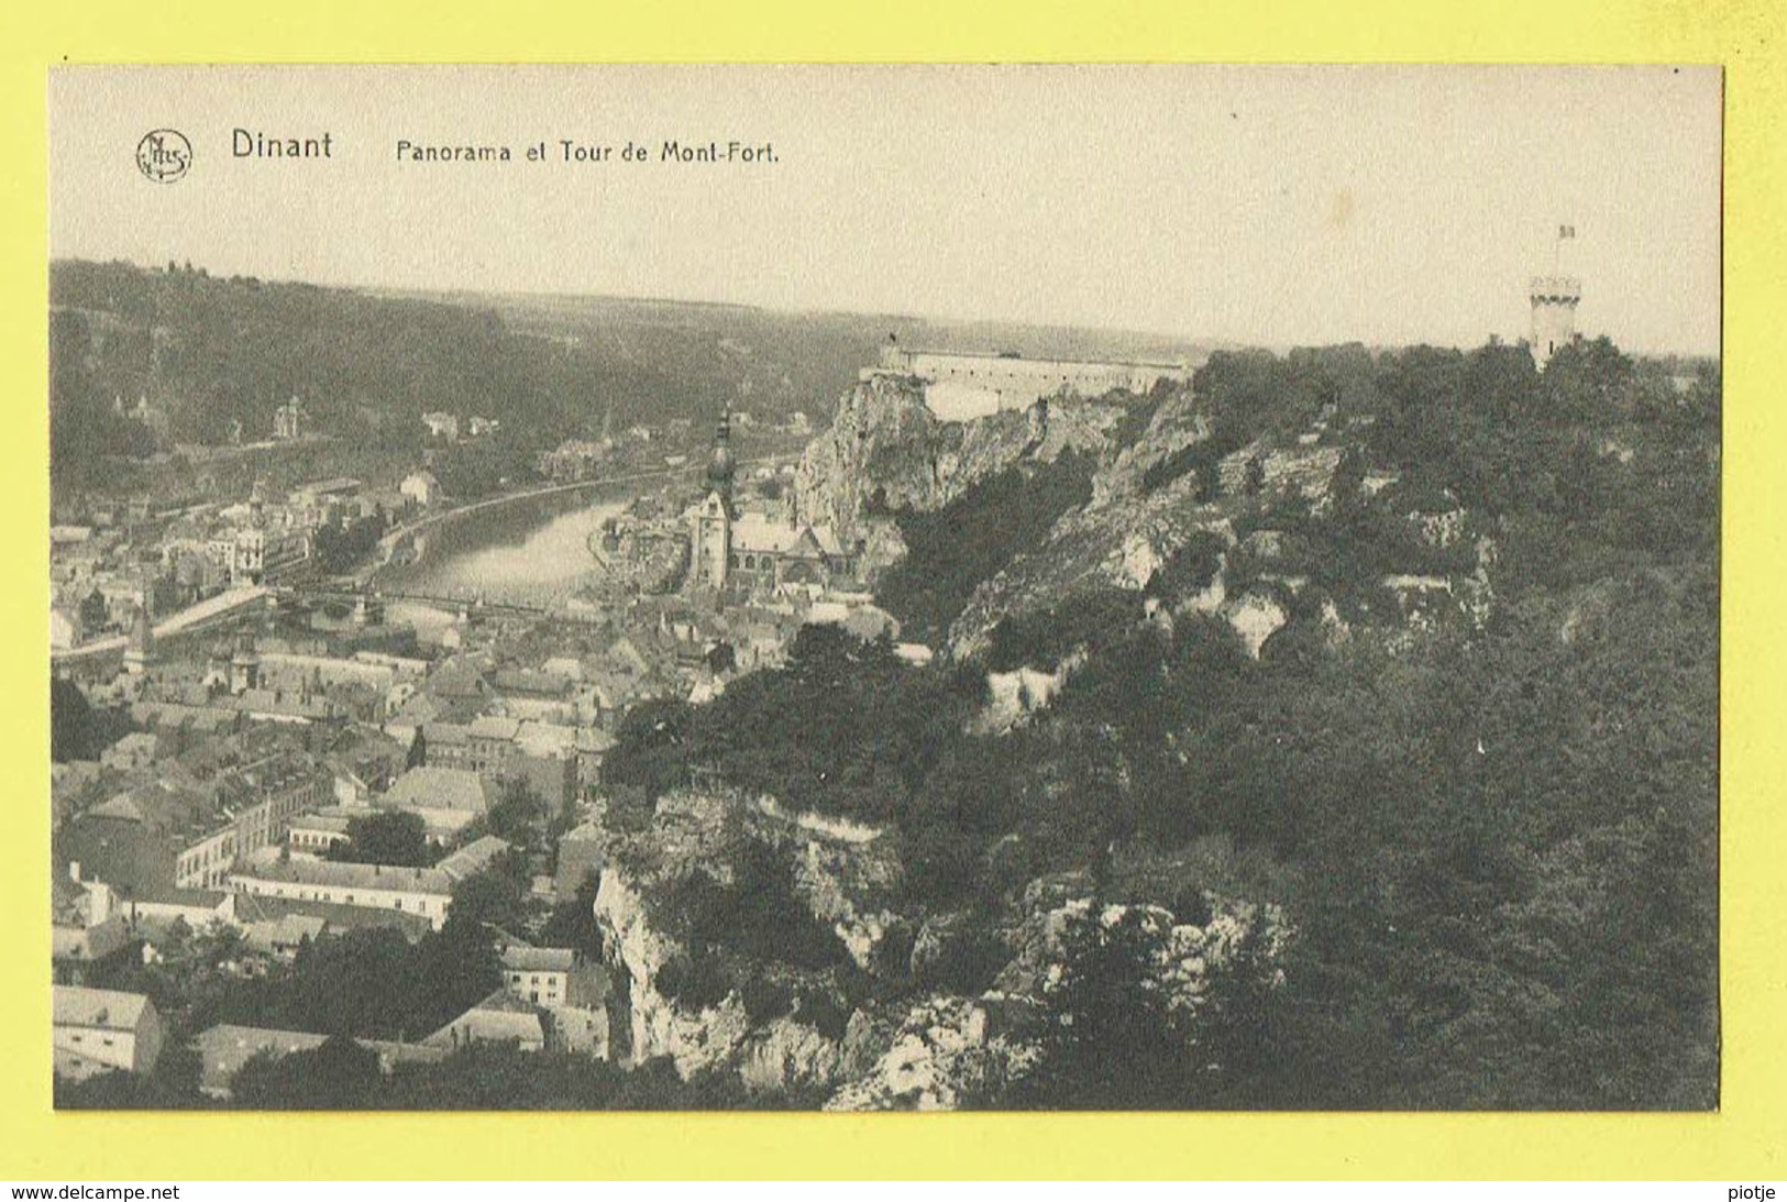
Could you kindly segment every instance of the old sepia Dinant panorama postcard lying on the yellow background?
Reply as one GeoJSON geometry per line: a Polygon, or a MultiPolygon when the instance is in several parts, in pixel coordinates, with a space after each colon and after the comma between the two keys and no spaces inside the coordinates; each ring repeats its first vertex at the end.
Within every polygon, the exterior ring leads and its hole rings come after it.
{"type": "Polygon", "coordinates": [[[1721,130],[52,70],[55,1107],[1717,1111],[1721,130]]]}

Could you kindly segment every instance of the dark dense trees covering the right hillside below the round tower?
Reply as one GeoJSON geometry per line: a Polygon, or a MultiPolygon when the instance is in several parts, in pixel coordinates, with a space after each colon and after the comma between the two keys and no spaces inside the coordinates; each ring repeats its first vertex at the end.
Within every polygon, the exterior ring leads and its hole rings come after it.
{"type": "MultiPolygon", "coordinates": [[[[1101,897],[1170,909],[1126,856],[1208,839],[1229,868],[1185,868],[1181,891],[1271,866],[1249,895],[1296,931],[1281,988],[1222,977],[1192,1020],[1145,986],[1145,931],[1088,927],[1040,1073],[1004,1104],[1712,1106],[1716,377],[1682,391],[1594,341],[1544,375],[1501,345],[1219,357],[1201,388],[1231,439],[1271,438],[1283,402],[1362,420],[1355,482],[1401,475],[1369,504],[1242,513],[1308,580],[1258,659],[1213,616],[1147,620],[1142,595],[1092,589],[949,672],[808,639],[652,730],[677,732],[679,763],[894,825],[917,906],[1008,913],[1038,873],[1090,868],[1101,897]],[[1451,509],[1451,543],[1406,516],[1451,509]],[[1378,580],[1471,575],[1480,538],[1489,623],[1410,638],[1378,580]],[[1322,625],[1328,598],[1351,638],[1322,625]],[[1051,705],[972,734],[976,668],[1069,655],[1051,705]]],[[[1196,593],[1219,552],[1187,548],[1158,598],[1196,593]]],[[[1231,588],[1256,570],[1228,559],[1231,588]]]]}

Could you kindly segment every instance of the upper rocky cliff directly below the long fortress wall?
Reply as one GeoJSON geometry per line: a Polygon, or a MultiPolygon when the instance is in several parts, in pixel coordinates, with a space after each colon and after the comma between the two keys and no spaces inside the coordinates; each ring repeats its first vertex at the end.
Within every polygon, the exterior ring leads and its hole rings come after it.
{"type": "MultiPolygon", "coordinates": [[[[840,400],[831,429],[808,447],[797,475],[799,504],[840,529],[861,530],[872,514],[929,513],[970,497],[1013,466],[1049,464],[1065,452],[1090,455],[1090,498],[1061,513],[1038,545],[1020,548],[965,591],[945,639],[954,659],[985,652],[1004,618],[1110,588],[1147,591],[1176,613],[1215,613],[1258,655],[1290,622],[1306,575],[1276,566],[1272,554],[1249,554],[1258,570],[1238,580],[1231,554],[1213,573],[1190,577],[1172,570],[1176,559],[1199,538],[1233,550],[1240,532],[1265,527],[1271,534],[1285,505],[1322,518],[1337,497],[1376,497],[1381,480],[1362,489],[1346,470],[1356,441],[1326,422],[1297,438],[1238,445],[1231,436],[1222,443],[1231,448],[1226,454],[1217,450],[1213,425],[1188,384],[1147,398],[1051,398],[1028,413],[954,423],[926,409],[915,380],[874,377],[840,400]]],[[[1458,538],[1456,514],[1422,522],[1435,545],[1458,538]]],[[[1430,602],[1410,600],[1410,580],[1415,575],[1385,577],[1403,616],[1433,613],[1430,602]]],[[[1426,577],[1419,584],[1428,593],[1446,591],[1449,600],[1464,588],[1469,595],[1453,609],[1467,620],[1481,622],[1487,613],[1481,568],[1471,582],[1458,575],[1451,584],[1426,577]]]]}

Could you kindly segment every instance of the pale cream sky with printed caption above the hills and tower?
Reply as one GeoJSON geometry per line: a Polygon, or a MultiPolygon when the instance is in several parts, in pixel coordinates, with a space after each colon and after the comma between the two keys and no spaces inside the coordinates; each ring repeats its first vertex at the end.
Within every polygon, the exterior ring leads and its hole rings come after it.
{"type": "Polygon", "coordinates": [[[1716,354],[1719,154],[1716,68],[63,68],[50,252],[1267,346],[1523,338],[1562,271],[1583,332],[1716,354]],[[138,170],[157,127],[179,179],[138,170]],[[236,129],[331,155],[238,157],[236,129]]]}

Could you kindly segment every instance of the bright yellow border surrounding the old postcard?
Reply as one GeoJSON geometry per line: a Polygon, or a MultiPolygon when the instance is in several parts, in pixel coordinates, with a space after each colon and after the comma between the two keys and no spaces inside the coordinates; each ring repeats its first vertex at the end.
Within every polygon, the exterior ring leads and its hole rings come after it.
{"type": "Polygon", "coordinates": [[[1780,0],[13,0],[0,16],[0,1177],[1787,1177],[1787,213],[1780,0]],[[1724,1084],[1717,1114],[55,1114],[48,972],[45,75],[207,61],[1719,63],[1724,1084]]]}

